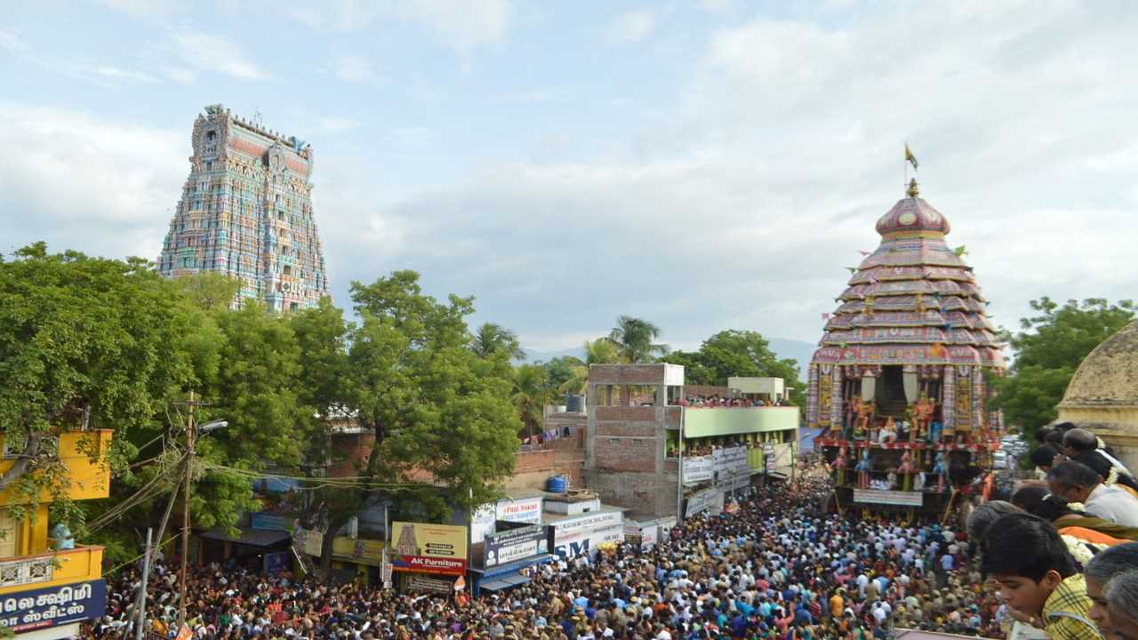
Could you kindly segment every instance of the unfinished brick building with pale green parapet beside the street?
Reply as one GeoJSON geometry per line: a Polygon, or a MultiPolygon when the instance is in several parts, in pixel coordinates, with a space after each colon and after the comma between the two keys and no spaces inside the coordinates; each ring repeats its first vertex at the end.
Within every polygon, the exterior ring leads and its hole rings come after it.
{"type": "MultiPolygon", "coordinates": [[[[742,378],[733,381],[747,380],[742,378]]],[[[742,385],[739,385],[742,386],[742,385]]],[[[630,517],[714,508],[725,493],[797,453],[797,407],[685,407],[678,364],[593,364],[586,391],[585,485],[630,517]]],[[[707,387],[719,396],[741,388],[707,387]]]]}

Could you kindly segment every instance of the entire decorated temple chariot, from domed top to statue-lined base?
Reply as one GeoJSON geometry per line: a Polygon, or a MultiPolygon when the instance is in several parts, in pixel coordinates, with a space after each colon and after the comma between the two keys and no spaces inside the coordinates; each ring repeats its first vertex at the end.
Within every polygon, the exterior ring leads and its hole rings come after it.
{"type": "Polygon", "coordinates": [[[948,219],[915,180],[906,195],[826,314],[807,424],[820,429],[839,509],[912,517],[990,490],[1000,418],[987,376],[1004,371],[1004,358],[963,247],[945,243],[948,219]]]}

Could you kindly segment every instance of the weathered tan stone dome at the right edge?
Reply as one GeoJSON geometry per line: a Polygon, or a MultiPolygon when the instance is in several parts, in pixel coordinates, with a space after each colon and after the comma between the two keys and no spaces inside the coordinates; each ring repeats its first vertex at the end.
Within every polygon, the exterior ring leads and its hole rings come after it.
{"type": "Polygon", "coordinates": [[[1095,347],[1058,404],[1058,421],[1088,428],[1138,469],[1138,322],[1095,347]]]}

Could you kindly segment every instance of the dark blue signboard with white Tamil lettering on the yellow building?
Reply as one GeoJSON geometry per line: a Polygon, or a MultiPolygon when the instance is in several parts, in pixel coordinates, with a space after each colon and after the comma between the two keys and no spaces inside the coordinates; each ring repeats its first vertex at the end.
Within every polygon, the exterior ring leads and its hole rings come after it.
{"type": "Polygon", "coordinates": [[[76,582],[0,596],[0,626],[23,633],[96,618],[106,610],[106,582],[76,582]]]}

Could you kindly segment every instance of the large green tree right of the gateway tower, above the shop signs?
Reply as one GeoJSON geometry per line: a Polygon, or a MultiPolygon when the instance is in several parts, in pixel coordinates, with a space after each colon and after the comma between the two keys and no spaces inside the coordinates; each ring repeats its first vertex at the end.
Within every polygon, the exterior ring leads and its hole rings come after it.
{"type": "Polygon", "coordinates": [[[376,435],[352,508],[323,523],[331,540],[351,515],[381,500],[440,518],[497,498],[513,471],[521,420],[504,356],[479,358],[465,318],[472,298],[424,295],[414,271],[352,284],[360,323],[347,350],[347,405],[376,435]]]}

